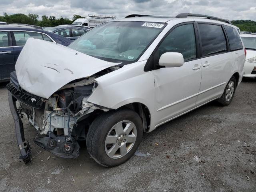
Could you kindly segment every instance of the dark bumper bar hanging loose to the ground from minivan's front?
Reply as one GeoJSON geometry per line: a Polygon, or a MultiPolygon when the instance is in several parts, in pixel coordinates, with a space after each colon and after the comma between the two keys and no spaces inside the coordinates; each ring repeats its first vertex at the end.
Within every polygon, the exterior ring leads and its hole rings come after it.
{"type": "Polygon", "coordinates": [[[20,159],[22,159],[24,163],[27,164],[31,161],[29,156],[31,153],[31,147],[28,141],[25,141],[23,123],[16,109],[16,98],[14,98],[10,92],[8,92],[8,101],[12,117],[14,118],[17,144],[20,149],[20,159]]]}

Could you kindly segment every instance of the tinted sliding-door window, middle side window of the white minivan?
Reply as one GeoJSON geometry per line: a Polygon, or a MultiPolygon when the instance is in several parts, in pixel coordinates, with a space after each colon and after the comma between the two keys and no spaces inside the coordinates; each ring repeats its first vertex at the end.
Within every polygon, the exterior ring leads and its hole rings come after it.
{"type": "Polygon", "coordinates": [[[221,26],[212,24],[198,24],[198,26],[202,42],[202,56],[227,51],[226,39],[221,26]]]}

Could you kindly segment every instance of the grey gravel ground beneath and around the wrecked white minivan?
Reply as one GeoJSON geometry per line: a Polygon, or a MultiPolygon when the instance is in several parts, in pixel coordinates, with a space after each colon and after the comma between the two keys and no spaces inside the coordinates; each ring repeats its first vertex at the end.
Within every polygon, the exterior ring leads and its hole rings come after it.
{"type": "Polygon", "coordinates": [[[0,88],[0,191],[256,191],[256,80],[243,81],[230,106],[202,106],[149,134],[132,158],[103,168],[82,146],[77,159],[54,157],[32,141],[36,130],[24,122],[32,162],[18,159],[7,90],[0,88]],[[248,178],[247,178],[248,176],[248,178]]]}

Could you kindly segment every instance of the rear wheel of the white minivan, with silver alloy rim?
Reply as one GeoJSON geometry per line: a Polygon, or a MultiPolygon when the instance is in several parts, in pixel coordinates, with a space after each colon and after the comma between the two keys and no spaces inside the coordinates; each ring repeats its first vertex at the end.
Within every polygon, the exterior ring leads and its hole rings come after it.
{"type": "Polygon", "coordinates": [[[236,78],[232,76],[228,81],[222,96],[217,99],[217,102],[219,102],[222,106],[228,106],[234,98],[234,94],[236,92],[236,84],[236,78]]]}

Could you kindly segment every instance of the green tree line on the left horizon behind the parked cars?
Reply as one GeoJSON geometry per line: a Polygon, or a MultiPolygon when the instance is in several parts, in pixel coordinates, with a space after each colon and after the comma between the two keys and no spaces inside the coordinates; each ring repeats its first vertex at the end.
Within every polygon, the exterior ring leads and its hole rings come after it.
{"type": "Polygon", "coordinates": [[[84,18],[80,15],[73,15],[73,19],[70,20],[68,18],[56,18],[54,16],[46,16],[43,15],[41,18],[42,20],[38,20],[39,16],[37,14],[13,14],[13,15],[8,15],[7,13],[4,12],[4,16],[0,16],[0,21],[6,22],[7,24],[12,24],[12,23],[20,23],[20,24],[30,24],[30,25],[37,25],[37,26],[58,26],[58,25],[63,25],[63,24],[72,24],[76,19],[78,18],[84,18]]]}

